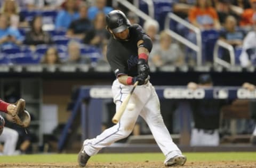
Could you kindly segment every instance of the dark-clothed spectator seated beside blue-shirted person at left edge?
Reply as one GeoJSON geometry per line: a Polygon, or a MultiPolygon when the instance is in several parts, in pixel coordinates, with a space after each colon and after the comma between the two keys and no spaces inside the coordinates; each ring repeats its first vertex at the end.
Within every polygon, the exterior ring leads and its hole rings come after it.
{"type": "Polygon", "coordinates": [[[49,33],[42,29],[42,16],[35,16],[31,21],[31,30],[26,33],[24,44],[35,46],[38,44],[51,44],[49,33]]]}

